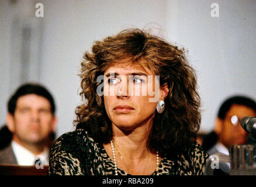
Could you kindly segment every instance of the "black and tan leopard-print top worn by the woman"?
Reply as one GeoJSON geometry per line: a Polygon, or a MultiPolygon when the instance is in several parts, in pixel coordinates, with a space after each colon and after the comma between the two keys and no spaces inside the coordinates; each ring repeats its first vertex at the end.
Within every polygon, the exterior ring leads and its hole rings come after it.
{"type": "MultiPolygon", "coordinates": [[[[196,143],[177,161],[162,158],[159,175],[203,175],[209,155],[196,143]],[[189,158],[189,159],[185,159],[189,158]]],[[[129,175],[117,167],[119,175],[129,175]]],[[[115,167],[102,144],[79,129],[59,137],[50,152],[48,175],[114,175],[115,167]]],[[[156,175],[155,171],[152,175],[156,175]]]]}

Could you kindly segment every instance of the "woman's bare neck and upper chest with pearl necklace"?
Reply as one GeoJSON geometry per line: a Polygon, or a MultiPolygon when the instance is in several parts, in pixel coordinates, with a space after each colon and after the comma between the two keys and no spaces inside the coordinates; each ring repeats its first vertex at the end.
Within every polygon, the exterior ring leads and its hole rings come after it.
{"type": "Polygon", "coordinates": [[[112,143],[103,145],[117,167],[131,175],[151,175],[157,168],[157,154],[151,153],[147,146],[152,120],[153,117],[132,130],[112,124],[112,143]]]}

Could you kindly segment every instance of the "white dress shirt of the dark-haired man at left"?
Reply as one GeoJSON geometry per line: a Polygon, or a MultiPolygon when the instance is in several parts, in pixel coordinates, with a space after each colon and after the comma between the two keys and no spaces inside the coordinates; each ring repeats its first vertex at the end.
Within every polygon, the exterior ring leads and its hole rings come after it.
{"type": "Polygon", "coordinates": [[[44,151],[39,155],[34,155],[25,147],[12,141],[12,150],[18,162],[18,165],[34,165],[35,161],[40,159],[43,165],[49,165],[49,149],[44,148],[44,151]]]}

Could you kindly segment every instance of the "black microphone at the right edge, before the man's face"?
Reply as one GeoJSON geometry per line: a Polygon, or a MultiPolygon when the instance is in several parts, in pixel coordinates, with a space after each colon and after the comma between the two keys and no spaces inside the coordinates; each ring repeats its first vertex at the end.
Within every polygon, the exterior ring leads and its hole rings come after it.
{"type": "Polygon", "coordinates": [[[256,144],[256,117],[243,117],[241,126],[247,133],[251,133],[247,138],[247,144],[256,144]]]}

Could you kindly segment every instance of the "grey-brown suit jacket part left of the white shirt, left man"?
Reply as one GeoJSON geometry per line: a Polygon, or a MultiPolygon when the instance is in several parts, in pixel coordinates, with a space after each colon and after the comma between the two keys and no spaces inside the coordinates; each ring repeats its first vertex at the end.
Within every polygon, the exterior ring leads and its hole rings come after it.
{"type": "Polygon", "coordinates": [[[0,150],[0,164],[18,164],[13,153],[11,144],[0,150]]]}

